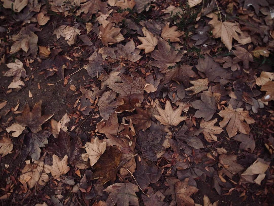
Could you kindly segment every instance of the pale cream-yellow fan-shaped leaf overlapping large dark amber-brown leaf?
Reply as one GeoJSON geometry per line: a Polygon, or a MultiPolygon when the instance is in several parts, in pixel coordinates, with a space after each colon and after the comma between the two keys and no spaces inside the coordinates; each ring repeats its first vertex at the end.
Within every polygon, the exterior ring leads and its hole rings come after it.
{"type": "Polygon", "coordinates": [[[85,150],[87,151],[87,153],[82,154],[82,158],[87,161],[87,158],[89,157],[90,166],[93,166],[104,153],[106,148],[107,143],[102,142],[98,139],[98,137],[95,137],[94,143],[87,142],[85,144],[85,150]]]}

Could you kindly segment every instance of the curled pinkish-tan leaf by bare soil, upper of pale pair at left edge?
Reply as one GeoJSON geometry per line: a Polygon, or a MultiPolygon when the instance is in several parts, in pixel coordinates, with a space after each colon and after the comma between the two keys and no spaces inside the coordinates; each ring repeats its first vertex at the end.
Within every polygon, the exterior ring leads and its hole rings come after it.
{"type": "Polygon", "coordinates": [[[6,65],[9,68],[9,70],[5,72],[5,74],[3,75],[4,77],[14,76],[13,81],[18,81],[21,77],[26,77],[26,70],[24,69],[23,63],[20,60],[15,59],[14,63],[12,62],[6,65]]]}

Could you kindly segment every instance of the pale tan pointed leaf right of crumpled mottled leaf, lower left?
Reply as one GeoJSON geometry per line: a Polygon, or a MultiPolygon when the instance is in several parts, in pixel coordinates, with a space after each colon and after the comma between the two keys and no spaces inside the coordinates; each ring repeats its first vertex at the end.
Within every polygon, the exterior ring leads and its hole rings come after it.
{"type": "Polygon", "coordinates": [[[44,170],[46,173],[51,173],[53,179],[59,178],[61,175],[66,174],[70,171],[70,167],[68,165],[68,156],[65,155],[62,160],[55,154],[52,156],[52,166],[44,165],[44,170]]]}

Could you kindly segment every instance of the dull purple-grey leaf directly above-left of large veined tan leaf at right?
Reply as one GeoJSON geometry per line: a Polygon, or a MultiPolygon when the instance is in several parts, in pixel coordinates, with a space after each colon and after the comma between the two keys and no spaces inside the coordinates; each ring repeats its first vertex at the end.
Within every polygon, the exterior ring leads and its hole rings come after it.
{"type": "Polygon", "coordinates": [[[194,117],[204,117],[205,121],[209,121],[217,109],[215,97],[211,91],[203,91],[201,100],[192,101],[191,105],[195,109],[198,109],[195,112],[194,117]]]}

